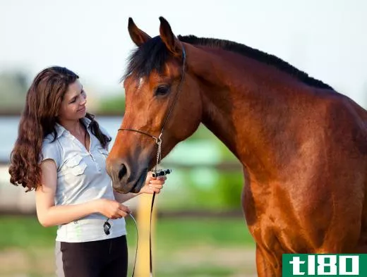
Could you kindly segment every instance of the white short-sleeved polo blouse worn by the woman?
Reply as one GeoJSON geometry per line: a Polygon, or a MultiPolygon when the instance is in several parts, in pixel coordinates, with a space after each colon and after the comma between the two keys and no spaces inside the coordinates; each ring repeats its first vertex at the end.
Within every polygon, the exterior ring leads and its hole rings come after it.
{"type": "MultiPolygon", "coordinates": [[[[81,204],[94,199],[114,199],[112,180],[106,171],[107,149],[90,130],[90,120],[83,118],[90,135],[90,151],[63,126],[56,125],[54,134],[44,138],[42,160],[52,159],[57,168],[55,205],[81,204]],[[54,140],[54,141],[53,141],[54,140]]],[[[101,128],[102,133],[108,135],[101,128]]],[[[102,214],[90,214],[78,221],[59,226],[56,240],[60,242],[88,242],[105,240],[126,235],[125,219],[109,220],[110,234],[104,233],[103,224],[107,220],[102,214]]]]}

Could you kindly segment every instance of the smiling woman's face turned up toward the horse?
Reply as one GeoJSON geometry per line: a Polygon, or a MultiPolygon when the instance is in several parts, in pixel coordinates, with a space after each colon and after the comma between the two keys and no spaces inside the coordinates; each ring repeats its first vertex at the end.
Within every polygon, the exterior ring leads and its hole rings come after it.
{"type": "Polygon", "coordinates": [[[60,121],[76,121],[83,118],[87,113],[85,104],[87,103],[87,94],[83,90],[83,85],[77,79],[68,86],[61,102],[58,117],[60,121]]]}

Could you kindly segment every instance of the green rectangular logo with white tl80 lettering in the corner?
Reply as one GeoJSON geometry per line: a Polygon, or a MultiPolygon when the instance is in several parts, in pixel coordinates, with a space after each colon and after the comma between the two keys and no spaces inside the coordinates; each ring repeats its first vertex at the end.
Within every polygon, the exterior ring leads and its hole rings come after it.
{"type": "Polygon", "coordinates": [[[367,276],[367,254],[283,254],[283,277],[367,276]]]}

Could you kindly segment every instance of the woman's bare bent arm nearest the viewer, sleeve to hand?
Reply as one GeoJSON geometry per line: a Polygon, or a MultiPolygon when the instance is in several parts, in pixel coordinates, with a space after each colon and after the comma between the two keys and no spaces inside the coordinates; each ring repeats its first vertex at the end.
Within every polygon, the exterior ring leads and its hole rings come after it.
{"type": "Polygon", "coordinates": [[[47,159],[41,164],[42,185],[37,187],[36,209],[38,221],[44,227],[76,221],[93,213],[101,213],[109,218],[121,218],[130,211],[128,207],[109,199],[96,199],[83,204],[55,206],[56,164],[47,159]]]}

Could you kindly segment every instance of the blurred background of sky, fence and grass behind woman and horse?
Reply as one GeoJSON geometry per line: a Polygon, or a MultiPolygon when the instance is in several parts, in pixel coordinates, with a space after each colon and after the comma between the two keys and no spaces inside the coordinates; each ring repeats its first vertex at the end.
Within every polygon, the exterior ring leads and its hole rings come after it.
{"type": "MultiPolygon", "coordinates": [[[[128,17],[153,37],[164,16],[176,35],[274,54],[366,109],[366,11],[363,0],[0,0],[0,276],[54,276],[56,228],[40,226],[33,192],[8,176],[25,94],[40,70],[58,65],[80,75],[89,111],[114,137],[124,116],[119,79],[134,49],[128,17]]],[[[174,171],[156,200],[156,276],[255,276],[239,162],[202,126],[164,166],[174,171]]],[[[141,203],[129,206],[138,213],[141,203]]],[[[136,234],[126,221],[132,264],[136,234]]]]}

